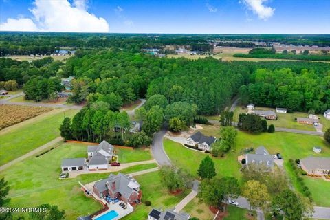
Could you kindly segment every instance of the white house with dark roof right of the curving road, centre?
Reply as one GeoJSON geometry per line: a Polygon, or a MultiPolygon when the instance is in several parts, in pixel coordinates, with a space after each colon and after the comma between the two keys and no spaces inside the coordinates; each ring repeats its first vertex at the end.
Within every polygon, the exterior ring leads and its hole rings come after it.
{"type": "Polygon", "coordinates": [[[197,146],[201,151],[211,151],[212,144],[216,141],[216,137],[208,137],[198,131],[186,139],[186,145],[197,146]]]}

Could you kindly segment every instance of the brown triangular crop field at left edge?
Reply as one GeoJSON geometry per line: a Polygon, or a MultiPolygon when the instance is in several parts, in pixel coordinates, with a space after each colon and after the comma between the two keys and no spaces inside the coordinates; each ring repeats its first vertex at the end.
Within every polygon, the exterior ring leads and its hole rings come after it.
{"type": "Polygon", "coordinates": [[[37,115],[51,111],[50,108],[45,107],[28,107],[28,106],[15,106],[15,105],[3,105],[0,104],[0,130],[11,126],[12,124],[17,124],[28,120],[29,118],[34,118],[37,115]]]}

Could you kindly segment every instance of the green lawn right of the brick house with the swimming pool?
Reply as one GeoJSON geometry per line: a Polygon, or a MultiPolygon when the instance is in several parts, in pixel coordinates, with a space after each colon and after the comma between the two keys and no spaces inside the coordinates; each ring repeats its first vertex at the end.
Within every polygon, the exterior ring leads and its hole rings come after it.
{"type": "Polygon", "coordinates": [[[142,204],[135,207],[133,213],[129,214],[123,219],[147,219],[148,213],[152,208],[174,208],[177,203],[179,203],[186,195],[188,195],[188,190],[182,192],[180,195],[171,195],[168,190],[160,181],[158,172],[147,173],[144,175],[136,176],[135,179],[141,185],[142,204]],[[151,201],[151,206],[145,206],[144,201],[151,201]]]}

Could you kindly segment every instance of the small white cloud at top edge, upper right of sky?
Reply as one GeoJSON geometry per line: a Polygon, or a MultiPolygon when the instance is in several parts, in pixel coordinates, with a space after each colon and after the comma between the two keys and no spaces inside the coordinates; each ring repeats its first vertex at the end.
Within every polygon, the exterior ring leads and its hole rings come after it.
{"type": "Polygon", "coordinates": [[[266,6],[268,0],[243,0],[249,10],[252,10],[254,14],[258,14],[259,19],[267,20],[273,16],[275,9],[266,6]]]}

